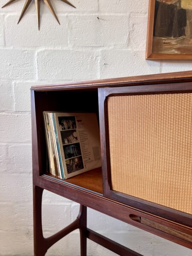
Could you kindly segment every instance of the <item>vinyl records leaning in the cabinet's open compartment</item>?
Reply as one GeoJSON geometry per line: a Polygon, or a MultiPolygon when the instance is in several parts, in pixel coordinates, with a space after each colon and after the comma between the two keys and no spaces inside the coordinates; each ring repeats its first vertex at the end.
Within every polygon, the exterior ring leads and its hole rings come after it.
{"type": "MultiPolygon", "coordinates": [[[[51,126],[45,130],[52,134],[52,155],[57,161],[54,174],[66,179],[101,166],[96,113],[44,112],[44,116],[51,126]]],[[[53,163],[50,159],[49,162],[53,163]]]]}

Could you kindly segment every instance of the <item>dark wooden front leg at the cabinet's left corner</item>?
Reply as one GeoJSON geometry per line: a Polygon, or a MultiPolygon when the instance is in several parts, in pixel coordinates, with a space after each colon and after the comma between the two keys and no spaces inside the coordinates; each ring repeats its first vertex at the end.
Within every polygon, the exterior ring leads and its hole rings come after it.
{"type": "Polygon", "coordinates": [[[33,186],[33,232],[34,232],[34,255],[44,256],[47,252],[42,230],[42,195],[44,189],[33,186]]]}

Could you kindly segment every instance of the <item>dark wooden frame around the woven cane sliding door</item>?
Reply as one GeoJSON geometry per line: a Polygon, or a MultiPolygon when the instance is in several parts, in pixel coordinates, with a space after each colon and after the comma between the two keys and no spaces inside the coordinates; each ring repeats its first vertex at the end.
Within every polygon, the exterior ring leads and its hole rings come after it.
{"type": "Polygon", "coordinates": [[[169,207],[155,204],[134,196],[116,192],[111,189],[111,163],[108,132],[107,98],[110,96],[165,94],[165,93],[191,93],[192,82],[175,84],[150,84],[128,87],[99,88],[99,123],[102,152],[103,194],[107,198],[122,202],[131,207],[142,209],[151,214],[192,227],[192,215],[180,212],[169,207]]]}

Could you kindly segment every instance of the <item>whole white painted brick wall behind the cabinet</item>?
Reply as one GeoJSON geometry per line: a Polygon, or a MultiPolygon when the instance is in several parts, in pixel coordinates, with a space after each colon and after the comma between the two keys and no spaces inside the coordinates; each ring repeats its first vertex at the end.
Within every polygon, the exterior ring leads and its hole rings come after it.
{"type": "MultiPolygon", "coordinates": [[[[1,5],[7,0],[2,0],[1,5]]],[[[148,0],[52,1],[61,26],[34,2],[0,9],[0,256],[32,256],[32,158],[29,88],[34,84],[192,70],[191,61],[146,61],[148,0]],[[98,18],[99,17],[99,20],[98,18]]],[[[79,205],[44,192],[44,235],[76,218],[79,205]]],[[[191,256],[182,246],[88,209],[88,226],[145,256],[191,256]]],[[[47,253],[78,256],[74,231],[47,253]]],[[[114,253],[88,241],[89,256],[114,253]]]]}

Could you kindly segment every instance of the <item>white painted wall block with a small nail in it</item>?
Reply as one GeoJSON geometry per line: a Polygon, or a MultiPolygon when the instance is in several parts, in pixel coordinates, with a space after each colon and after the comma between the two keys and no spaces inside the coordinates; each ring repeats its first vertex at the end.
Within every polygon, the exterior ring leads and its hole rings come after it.
{"type": "Polygon", "coordinates": [[[73,47],[127,47],[128,16],[71,16],[69,42],[73,47]],[[114,37],[115,35],[115,37],[114,37]]]}

